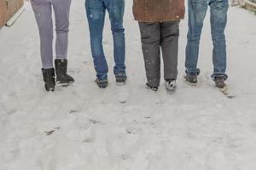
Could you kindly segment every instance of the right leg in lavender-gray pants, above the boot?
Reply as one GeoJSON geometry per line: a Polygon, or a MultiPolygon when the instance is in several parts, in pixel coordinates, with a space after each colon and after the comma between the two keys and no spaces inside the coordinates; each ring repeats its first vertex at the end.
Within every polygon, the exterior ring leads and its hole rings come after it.
{"type": "Polygon", "coordinates": [[[55,12],[56,59],[67,59],[68,27],[71,0],[50,0],[55,12]]]}

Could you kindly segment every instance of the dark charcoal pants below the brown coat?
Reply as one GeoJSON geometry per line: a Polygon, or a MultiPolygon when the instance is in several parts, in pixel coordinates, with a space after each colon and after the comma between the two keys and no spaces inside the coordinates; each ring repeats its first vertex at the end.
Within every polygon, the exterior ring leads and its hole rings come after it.
{"type": "Polygon", "coordinates": [[[179,21],[139,22],[148,84],[160,85],[160,48],[164,60],[164,78],[177,78],[179,21]]]}

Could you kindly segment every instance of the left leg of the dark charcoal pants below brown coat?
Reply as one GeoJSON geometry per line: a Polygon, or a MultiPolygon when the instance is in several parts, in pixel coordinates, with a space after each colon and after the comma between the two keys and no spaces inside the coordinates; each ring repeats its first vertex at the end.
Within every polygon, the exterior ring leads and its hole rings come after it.
{"type": "Polygon", "coordinates": [[[160,85],[160,23],[139,22],[148,85],[160,85]]]}

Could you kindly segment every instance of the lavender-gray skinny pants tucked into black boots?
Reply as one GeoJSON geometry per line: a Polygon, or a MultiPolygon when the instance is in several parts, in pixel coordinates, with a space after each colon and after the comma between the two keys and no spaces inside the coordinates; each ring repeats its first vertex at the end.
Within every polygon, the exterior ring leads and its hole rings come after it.
{"type": "Polygon", "coordinates": [[[67,59],[69,11],[71,0],[31,0],[31,4],[39,29],[43,68],[53,68],[52,8],[55,12],[56,59],[67,59]]]}

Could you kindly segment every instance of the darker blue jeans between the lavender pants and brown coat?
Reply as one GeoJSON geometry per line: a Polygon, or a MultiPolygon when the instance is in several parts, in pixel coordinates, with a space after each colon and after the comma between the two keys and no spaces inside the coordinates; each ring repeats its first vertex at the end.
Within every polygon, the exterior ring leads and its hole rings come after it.
{"type": "Polygon", "coordinates": [[[108,64],[102,47],[102,31],[106,10],[108,10],[113,35],[113,73],[125,73],[125,29],[123,17],[125,0],[85,0],[87,19],[90,27],[90,47],[100,80],[108,78],[108,64]]]}

